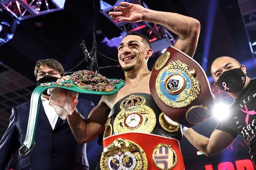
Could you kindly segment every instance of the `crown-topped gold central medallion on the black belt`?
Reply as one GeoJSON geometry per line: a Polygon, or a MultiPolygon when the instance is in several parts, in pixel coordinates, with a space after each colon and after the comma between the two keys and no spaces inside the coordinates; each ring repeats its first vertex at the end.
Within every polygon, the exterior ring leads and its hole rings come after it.
{"type": "Polygon", "coordinates": [[[124,132],[151,133],[156,125],[154,111],[146,106],[146,98],[130,95],[120,104],[121,111],[117,114],[113,129],[115,134],[124,132]]]}

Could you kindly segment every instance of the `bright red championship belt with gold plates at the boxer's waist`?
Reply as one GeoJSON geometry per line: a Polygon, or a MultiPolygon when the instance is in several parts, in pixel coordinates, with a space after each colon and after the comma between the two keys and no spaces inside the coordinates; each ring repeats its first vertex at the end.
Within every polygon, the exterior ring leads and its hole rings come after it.
{"type": "Polygon", "coordinates": [[[150,133],[127,132],[106,137],[102,170],[184,170],[178,140],[150,133]]]}

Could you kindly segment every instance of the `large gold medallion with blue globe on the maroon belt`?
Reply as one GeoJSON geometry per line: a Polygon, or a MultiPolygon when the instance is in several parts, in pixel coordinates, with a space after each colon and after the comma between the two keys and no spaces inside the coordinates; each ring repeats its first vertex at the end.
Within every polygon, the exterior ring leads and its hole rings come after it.
{"type": "Polygon", "coordinates": [[[171,61],[156,78],[158,97],[172,108],[188,106],[200,92],[199,82],[194,78],[195,69],[188,70],[187,64],[171,61]]]}

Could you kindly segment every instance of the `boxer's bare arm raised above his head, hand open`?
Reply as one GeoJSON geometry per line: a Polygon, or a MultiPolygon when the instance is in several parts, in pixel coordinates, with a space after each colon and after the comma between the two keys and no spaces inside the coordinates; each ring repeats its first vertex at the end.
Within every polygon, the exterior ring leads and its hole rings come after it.
{"type": "Polygon", "coordinates": [[[154,11],[138,4],[120,2],[120,5],[114,9],[121,12],[109,12],[112,18],[131,23],[143,20],[161,24],[178,35],[173,46],[193,57],[200,33],[198,20],[177,13],[154,11]]]}

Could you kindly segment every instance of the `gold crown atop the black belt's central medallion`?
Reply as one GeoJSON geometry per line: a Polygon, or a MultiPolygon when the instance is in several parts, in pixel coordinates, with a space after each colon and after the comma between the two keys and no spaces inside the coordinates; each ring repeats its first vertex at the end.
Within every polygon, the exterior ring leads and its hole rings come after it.
{"type": "Polygon", "coordinates": [[[146,98],[138,95],[130,95],[124,101],[121,102],[120,108],[124,110],[139,108],[146,104],[146,98]]]}

